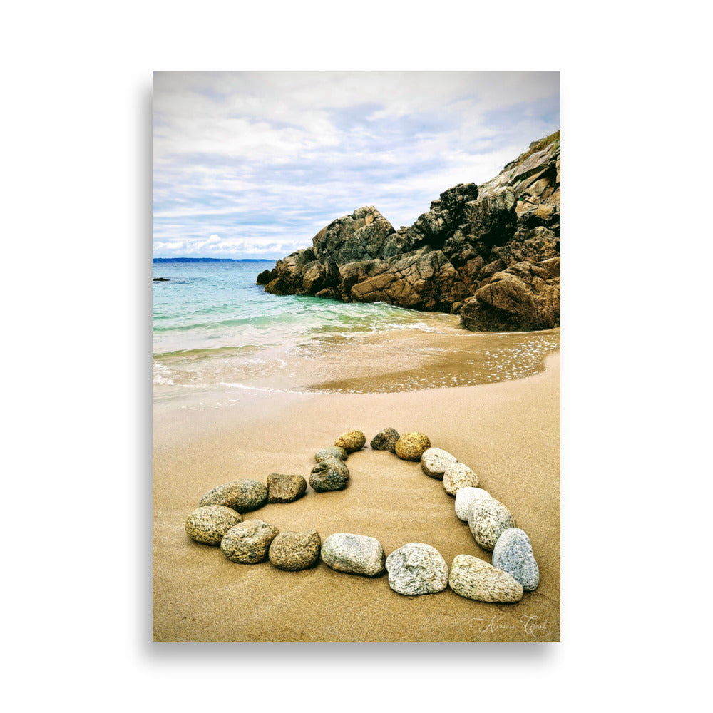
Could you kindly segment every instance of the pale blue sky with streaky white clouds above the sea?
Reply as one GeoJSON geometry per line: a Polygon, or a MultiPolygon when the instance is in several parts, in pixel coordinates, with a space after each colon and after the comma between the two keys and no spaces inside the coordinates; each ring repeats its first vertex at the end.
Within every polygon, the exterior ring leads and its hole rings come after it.
{"type": "Polygon", "coordinates": [[[558,128],[558,72],[157,72],[153,256],[284,257],[361,205],[411,225],[558,128]]]}

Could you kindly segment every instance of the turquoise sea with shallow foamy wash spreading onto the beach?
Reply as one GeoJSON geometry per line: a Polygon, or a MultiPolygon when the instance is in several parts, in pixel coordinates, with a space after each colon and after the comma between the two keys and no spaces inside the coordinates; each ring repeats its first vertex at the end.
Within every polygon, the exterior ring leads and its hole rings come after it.
{"type": "Polygon", "coordinates": [[[190,389],[404,391],[519,379],[559,330],[475,334],[451,314],[267,294],[274,261],[154,262],[153,384],[190,389]]]}

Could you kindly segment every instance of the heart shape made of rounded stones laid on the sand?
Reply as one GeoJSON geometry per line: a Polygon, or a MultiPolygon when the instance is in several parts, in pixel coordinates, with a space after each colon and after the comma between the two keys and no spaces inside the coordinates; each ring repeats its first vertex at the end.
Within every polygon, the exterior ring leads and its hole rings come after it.
{"type": "MultiPolygon", "coordinates": [[[[362,431],[348,431],[334,446],[314,454],[309,485],[317,493],[344,490],[349,485],[349,453],[364,448],[362,431]]],[[[392,428],[371,439],[375,451],[390,451],[404,461],[421,463],[430,478],[443,481],[456,498],[456,515],[466,521],[473,539],[493,553],[493,562],[473,555],[457,555],[450,570],[441,553],[426,543],[408,543],[388,557],[379,540],[367,535],[334,533],[322,542],[317,530],[280,532],[262,520],[243,520],[265,503],[290,503],[304,495],[302,476],[271,473],[265,483],[243,478],[212,488],[188,515],[185,531],[205,545],[220,545],[232,562],[257,564],[270,560],[282,570],[303,570],[322,562],[337,572],[379,577],[389,573],[389,587],[403,595],[435,594],[447,586],[458,595],[481,602],[517,602],[540,583],[540,572],[530,538],[500,501],[478,487],[478,476],[456,456],[433,448],[428,436],[404,436],[392,428]]]]}

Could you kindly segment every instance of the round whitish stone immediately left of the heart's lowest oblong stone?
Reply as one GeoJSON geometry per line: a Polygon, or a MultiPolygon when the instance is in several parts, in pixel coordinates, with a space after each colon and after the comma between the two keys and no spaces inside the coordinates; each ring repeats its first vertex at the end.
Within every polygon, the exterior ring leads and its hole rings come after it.
{"type": "Polygon", "coordinates": [[[448,585],[448,565],[436,548],[420,542],[394,550],[386,558],[389,587],[404,595],[434,594],[448,585]]]}

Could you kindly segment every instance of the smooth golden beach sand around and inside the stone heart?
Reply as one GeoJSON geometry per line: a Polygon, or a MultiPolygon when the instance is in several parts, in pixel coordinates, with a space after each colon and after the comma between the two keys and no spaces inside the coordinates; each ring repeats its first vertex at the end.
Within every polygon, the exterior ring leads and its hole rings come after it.
{"type": "Polygon", "coordinates": [[[528,379],[396,394],[245,392],[219,409],[155,409],[153,627],[155,641],[558,641],[560,639],[560,356],[528,379]],[[405,597],[381,578],[324,565],[283,572],[239,565],[185,534],[210,488],[269,473],[309,478],[314,451],[361,429],[349,487],[266,505],[254,515],[280,530],[371,535],[388,555],[433,545],[450,567],[458,554],[491,561],[454,498],[419,463],[372,451],[386,426],[421,431],[471,466],[511,509],[533,543],[540,586],[515,604],[467,600],[449,588],[405,597]]]}

